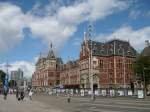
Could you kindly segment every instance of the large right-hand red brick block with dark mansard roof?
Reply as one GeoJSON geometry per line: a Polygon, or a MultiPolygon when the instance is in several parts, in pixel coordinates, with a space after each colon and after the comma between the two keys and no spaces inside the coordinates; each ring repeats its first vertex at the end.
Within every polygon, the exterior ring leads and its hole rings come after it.
{"type": "Polygon", "coordinates": [[[127,41],[101,43],[84,39],[80,52],[81,87],[90,88],[93,77],[94,88],[129,88],[134,80],[136,54],[127,41]]]}

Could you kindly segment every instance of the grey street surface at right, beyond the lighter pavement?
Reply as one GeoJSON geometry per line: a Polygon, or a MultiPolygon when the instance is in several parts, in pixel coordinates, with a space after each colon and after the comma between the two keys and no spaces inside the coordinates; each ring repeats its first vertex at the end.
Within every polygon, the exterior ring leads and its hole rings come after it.
{"type": "Polygon", "coordinates": [[[68,104],[66,97],[48,97],[35,98],[53,107],[61,108],[65,112],[150,112],[150,100],[145,99],[101,97],[96,101],[90,101],[89,98],[73,97],[68,104]]]}

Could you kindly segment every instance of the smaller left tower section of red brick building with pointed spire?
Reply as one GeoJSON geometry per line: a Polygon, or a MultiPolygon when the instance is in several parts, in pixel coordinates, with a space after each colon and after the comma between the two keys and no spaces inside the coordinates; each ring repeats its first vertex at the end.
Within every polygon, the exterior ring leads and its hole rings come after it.
{"type": "Polygon", "coordinates": [[[48,56],[40,57],[36,63],[36,70],[32,75],[33,88],[45,91],[46,89],[58,86],[62,66],[61,58],[55,57],[51,46],[48,56]]]}

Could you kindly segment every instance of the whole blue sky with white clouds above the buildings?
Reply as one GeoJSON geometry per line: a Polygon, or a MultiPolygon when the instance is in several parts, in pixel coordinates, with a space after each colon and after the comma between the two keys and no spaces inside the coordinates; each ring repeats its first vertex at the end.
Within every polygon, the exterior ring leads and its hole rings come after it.
{"type": "Polygon", "coordinates": [[[129,41],[142,51],[150,40],[149,0],[0,0],[0,69],[31,77],[53,44],[56,57],[78,59],[88,25],[91,39],[129,41]]]}

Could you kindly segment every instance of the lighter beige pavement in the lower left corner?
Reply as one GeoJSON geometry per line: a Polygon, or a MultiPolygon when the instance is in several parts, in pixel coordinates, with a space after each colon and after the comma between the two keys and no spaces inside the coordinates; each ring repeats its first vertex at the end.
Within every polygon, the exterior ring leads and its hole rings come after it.
{"type": "Polygon", "coordinates": [[[45,103],[25,98],[18,101],[15,95],[8,95],[7,100],[0,95],[0,112],[63,112],[45,103]]]}

